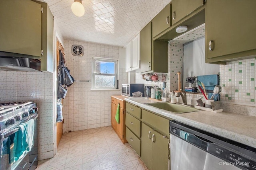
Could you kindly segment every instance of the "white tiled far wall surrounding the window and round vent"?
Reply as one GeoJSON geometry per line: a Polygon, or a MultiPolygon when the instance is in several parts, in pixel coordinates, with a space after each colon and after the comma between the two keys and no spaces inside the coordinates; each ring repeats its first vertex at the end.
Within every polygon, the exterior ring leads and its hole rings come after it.
{"type": "MultiPolygon", "coordinates": [[[[92,57],[119,58],[119,47],[88,42],[64,41],[65,59],[75,80],[91,80],[92,57]],[[84,46],[84,56],[73,56],[71,46],[84,46]]],[[[119,70],[119,89],[127,83],[125,69],[119,70]]],[[[92,91],[91,82],[74,82],[64,99],[64,132],[111,125],[111,98],[121,90],[92,91]]]]}

